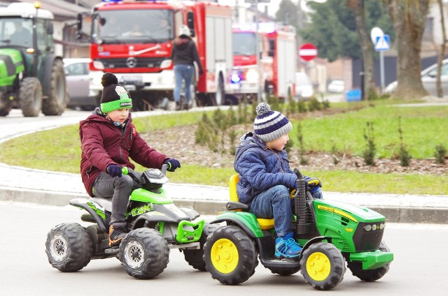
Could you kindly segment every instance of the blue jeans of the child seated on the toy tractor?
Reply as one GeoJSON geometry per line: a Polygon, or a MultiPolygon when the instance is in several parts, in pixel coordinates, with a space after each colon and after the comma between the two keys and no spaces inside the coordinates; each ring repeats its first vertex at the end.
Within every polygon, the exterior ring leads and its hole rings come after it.
{"type": "Polygon", "coordinates": [[[274,228],[278,237],[292,232],[291,223],[294,200],[289,197],[289,189],[277,185],[258,194],[251,203],[250,212],[262,219],[274,218],[274,228]]]}

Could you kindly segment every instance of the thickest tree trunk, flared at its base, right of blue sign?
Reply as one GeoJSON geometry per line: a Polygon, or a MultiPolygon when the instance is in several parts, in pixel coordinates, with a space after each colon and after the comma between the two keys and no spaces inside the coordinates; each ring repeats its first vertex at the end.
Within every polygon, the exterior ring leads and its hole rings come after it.
{"type": "Polygon", "coordinates": [[[421,83],[421,40],[430,0],[384,0],[392,17],[398,50],[398,85],[392,96],[412,100],[428,95],[421,83]]]}

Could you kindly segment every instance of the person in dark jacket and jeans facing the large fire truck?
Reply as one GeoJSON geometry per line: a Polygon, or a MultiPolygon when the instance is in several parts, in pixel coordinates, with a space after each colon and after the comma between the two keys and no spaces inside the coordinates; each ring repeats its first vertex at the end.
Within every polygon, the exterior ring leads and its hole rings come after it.
{"type": "Polygon", "coordinates": [[[173,63],[174,63],[174,101],[176,102],[176,110],[186,109],[190,106],[191,91],[190,85],[195,73],[194,62],[199,68],[199,75],[204,73],[199,54],[195,43],[190,37],[190,29],[187,26],[181,26],[179,37],[174,39],[173,45],[173,63]],[[181,87],[182,81],[185,82],[185,101],[183,108],[181,105],[181,87]]]}

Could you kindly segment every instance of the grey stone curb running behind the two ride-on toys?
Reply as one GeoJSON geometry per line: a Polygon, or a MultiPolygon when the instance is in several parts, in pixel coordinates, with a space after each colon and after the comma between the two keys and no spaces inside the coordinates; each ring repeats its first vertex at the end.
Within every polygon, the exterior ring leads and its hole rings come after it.
{"type": "MultiPolygon", "coordinates": [[[[87,194],[38,191],[23,188],[0,186],[0,201],[27,202],[38,205],[63,207],[69,205],[73,198],[88,198],[87,194]]],[[[214,200],[176,200],[177,207],[195,209],[202,215],[216,215],[225,212],[225,201],[214,200]]],[[[375,212],[386,216],[391,223],[434,223],[448,224],[448,208],[445,207],[380,207],[369,206],[375,212]]]]}

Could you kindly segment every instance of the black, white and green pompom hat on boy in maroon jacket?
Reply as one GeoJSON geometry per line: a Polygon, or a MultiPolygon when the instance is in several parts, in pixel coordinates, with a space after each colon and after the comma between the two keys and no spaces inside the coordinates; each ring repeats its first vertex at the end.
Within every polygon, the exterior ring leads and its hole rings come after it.
{"type": "Polygon", "coordinates": [[[127,90],[118,84],[116,75],[104,73],[101,78],[101,84],[103,85],[101,96],[101,110],[103,113],[132,108],[132,99],[127,90]]]}

